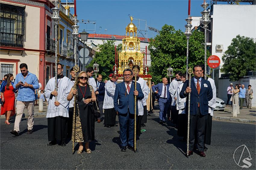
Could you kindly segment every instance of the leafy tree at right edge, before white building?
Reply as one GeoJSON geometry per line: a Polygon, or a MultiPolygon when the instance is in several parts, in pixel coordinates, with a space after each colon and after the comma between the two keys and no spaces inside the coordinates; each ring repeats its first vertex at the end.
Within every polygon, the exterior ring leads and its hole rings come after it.
{"type": "Polygon", "coordinates": [[[253,38],[237,35],[222,56],[221,72],[229,74],[230,81],[238,81],[248,71],[255,70],[256,44],[253,38]]]}

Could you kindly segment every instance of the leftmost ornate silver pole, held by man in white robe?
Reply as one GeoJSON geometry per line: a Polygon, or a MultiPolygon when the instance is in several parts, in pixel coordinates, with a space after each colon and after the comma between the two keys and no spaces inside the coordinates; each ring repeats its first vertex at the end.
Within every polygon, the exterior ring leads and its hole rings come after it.
{"type": "MultiPolygon", "coordinates": [[[[61,19],[60,18],[60,9],[58,7],[59,1],[58,0],[54,0],[53,4],[55,5],[54,8],[52,8],[52,20],[54,21],[54,33],[55,33],[55,91],[58,91],[58,87],[57,87],[57,74],[58,74],[58,55],[57,55],[57,50],[58,50],[58,38],[57,38],[57,29],[58,29],[58,21],[61,19]]],[[[57,96],[55,96],[55,101],[57,101],[57,96]]]]}

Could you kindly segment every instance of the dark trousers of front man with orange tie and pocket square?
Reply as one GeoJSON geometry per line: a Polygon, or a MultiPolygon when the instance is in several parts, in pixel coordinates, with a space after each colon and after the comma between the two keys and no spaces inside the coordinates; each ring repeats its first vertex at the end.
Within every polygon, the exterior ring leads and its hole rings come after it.
{"type": "Polygon", "coordinates": [[[201,115],[200,109],[196,115],[190,115],[190,128],[189,128],[189,151],[193,151],[195,145],[195,130],[197,129],[197,146],[198,151],[204,151],[204,133],[207,115],[201,115]]]}

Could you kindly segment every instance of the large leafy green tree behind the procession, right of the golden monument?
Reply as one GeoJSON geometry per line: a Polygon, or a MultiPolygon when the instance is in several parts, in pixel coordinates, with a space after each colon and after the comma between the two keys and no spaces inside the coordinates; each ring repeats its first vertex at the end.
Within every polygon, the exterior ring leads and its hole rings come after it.
{"type": "MultiPolygon", "coordinates": [[[[173,73],[186,73],[187,39],[179,29],[165,24],[160,34],[150,39],[148,49],[151,55],[150,72],[154,82],[161,82],[167,76],[167,68],[172,67],[173,73]]],[[[207,51],[207,56],[210,53],[207,51]]],[[[189,38],[189,67],[204,63],[204,34],[194,31],[189,38]]]]}

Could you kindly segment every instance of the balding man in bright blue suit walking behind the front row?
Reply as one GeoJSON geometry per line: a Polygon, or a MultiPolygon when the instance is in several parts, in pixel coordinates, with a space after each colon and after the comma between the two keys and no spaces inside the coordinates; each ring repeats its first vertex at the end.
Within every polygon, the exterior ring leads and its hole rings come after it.
{"type": "Polygon", "coordinates": [[[167,114],[167,109],[169,103],[171,102],[170,92],[168,91],[169,84],[167,78],[162,79],[162,83],[158,83],[157,85],[152,86],[152,91],[158,94],[158,102],[159,102],[159,118],[160,124],[166,123],[165,118],[167,114]]]}

